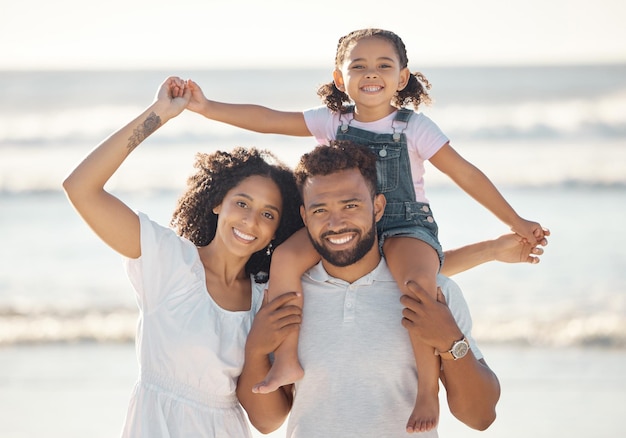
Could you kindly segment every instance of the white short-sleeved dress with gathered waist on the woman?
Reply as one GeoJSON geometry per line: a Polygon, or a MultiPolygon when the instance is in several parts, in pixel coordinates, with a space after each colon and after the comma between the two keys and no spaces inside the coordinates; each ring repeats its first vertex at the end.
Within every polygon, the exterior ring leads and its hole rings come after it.
{"type": "Polygon", "coordinates": [[[235,389],[264,285],[252,282],[250,310],[222,309],[195,245],[139,217],[142,255],[125,266],[140,310],[140,369],[122,436],[250,437],[235,389]]]}

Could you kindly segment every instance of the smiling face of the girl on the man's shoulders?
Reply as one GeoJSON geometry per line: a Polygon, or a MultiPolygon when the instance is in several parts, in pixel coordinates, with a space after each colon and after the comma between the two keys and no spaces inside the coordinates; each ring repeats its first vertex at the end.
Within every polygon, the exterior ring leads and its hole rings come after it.
{"type": "Polygon", "coordinates": [[[391,99],[406,87],[409,75],[408,68],[401,67],[391,42],[370,37],[347,49],[342,65],[333,72],[333,79],[337,88],[354,101],[357,114],[374,111],[372,116],[381,118],[395,110],[391,99]]]}

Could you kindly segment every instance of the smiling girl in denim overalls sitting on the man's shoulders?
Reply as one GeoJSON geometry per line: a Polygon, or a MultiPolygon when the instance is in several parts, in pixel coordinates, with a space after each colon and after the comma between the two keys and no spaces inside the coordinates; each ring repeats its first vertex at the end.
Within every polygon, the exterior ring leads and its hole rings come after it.
{"type": "MultiPolygon", "coordinates": [[[[463,159],[448,138],[417,110],[428,102],[430,87],[421,73],[411,73],[404,43],[393,32],[362,29],[340,38],[333,82],[318,94],[326,106],[305,112],[282,112],[258,105],[233,105],[207,100],[190,82],[188,108],[207,118],[245,129],[329,140],[352,140],[377,154],[378,190],[387,198],[378,223],[381,250],[400,288],[415,282],[436,296],[436,275],[443,265],[437,225],[424,192],[424,160],[447,174],[512,231],[531,245],[543,241],[544,230],[521,218],[491,181],[463,159]]],[[[340,244],[340,243],[338,243],[340,244]]],[[[296,233],[276,252],[271,267],[270,297],[300,290],[300,275],[318,260],[304,232],[296,233]]],[[[439,358],[412,339],[418,368],[418,394],[407,422],[408,432],[426,431],[438,422],[439,358]]],[[[436,353],[436,352],[435,352],[436,353]]],[[[256,390],[271,392],[297,380],[303,370],[292,336],[276,352],[274,366],[256,390]]]]}

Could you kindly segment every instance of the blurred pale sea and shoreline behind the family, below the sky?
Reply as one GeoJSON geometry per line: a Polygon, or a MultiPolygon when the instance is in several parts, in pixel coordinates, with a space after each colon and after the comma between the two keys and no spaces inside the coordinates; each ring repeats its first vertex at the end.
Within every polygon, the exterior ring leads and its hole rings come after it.
{"type": "MultiPolygon", "coordinates": [[[[433,104],[421,111],[521,216],[552,232],[538,265],[494,262],[455,276],[474,336],[502,380],[505,420],[496,421],[496,431],[612,436],[621,426],[609,414],[626,402],[626,378],[618,372],[626,367],[626,65],[421,71],[433,86],[433,104]],[[598,400],[589,404],[587,395],[598,400]],[[569,403],[568,412],[580,415],[556,421],[536,396],[544,405],[569,403]],[[520,426],[529,416],[539,431],[520,426]]],[[[61,181],[149,105],[170,74],[196,80],[215,100],[285,110],[319,105],[317,87],[330,80],[322,69],[0,72],[0,430],[9,431],[3,436],[50,430],[111,436],[94,433],[89,419],[119,431],[136,375],[133,292],[120,257],[78,218],[61,181]],[[101,395],[91,410],[79,402],[89,388],[101,395]],[[44,403],[34,402],[57,398],[63,403],[56,409],[80,412],[84,428],[69,428],[63,415],[44,415],[44,403]],[[41,421],[27,421],[39,405],[41,421]]],[[[268,148],[293,165],[315,143],[184,113],[133,152],[109,189],[167,224],[194,154],[234,146],[268,148]]],[[[425,178],[444,248],[508,232],[436,169],[429,167],[425,178]]],[[[442,420],[442,436],[449,427],[442,420]]]]}

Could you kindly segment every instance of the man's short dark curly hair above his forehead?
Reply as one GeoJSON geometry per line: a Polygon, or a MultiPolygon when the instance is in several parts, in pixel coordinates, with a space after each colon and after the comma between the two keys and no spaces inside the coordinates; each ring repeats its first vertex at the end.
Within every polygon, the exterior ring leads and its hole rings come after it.
{"type": "Polygon", "coordinates": [[[376,161],[376,155],[366,146],[349,140],[333,140],[329,146],[317,146],[300,158],[294,170],[300,197],[308,178],[358,169],[370,188],[373,199],[377,193],[376,161]]]}

